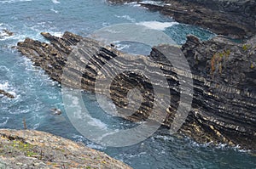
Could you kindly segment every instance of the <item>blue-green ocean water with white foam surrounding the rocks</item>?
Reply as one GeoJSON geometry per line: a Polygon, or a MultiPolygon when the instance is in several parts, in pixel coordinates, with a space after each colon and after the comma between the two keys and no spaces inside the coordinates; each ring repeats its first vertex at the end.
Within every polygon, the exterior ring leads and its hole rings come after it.
{"type": "MultiPolygon", "coordinates": [[[[104,26],[120,23],[138,23],[165,31],[178,44],[185,42],[188,34],[201,40],[214,36],[210,31],[176,23],[172,18],[150,12],[137,3],[110,5],[103,0],[0,0],[0,89],[16,96],[15,99],[0,99],[0,127],[21,129],[25,118],[30,129],[83,142],[134,168],[256,168],[256,157],[250,151],[225,145],[196,144],[189,138],[168,134],[165,128],[143,143],[129,147],[109,148],[94,144],[81,136],[68,120],[59,84],[11,48],[26,37],[45,41],[40,36],[42,31],[56,36],[71,31],[86,37],[104,26]],[[14,36],[6,37],[1,31],[3,29],[13,31],[14,36]],[[52,115],[52,108],[61,109],[62,115],[52,115]]],[[[134,53],[149,52],[148,49],[134,49],[136,45],[129,43],[120,43],[119,48],[134,53]]],[[[103,112],[94,94],[83,93],[83,99],[95,117],[101,118],[103,112]]],[[[104,122],[106,126],[132,125],[122,119],[115,121],[116,124],[108,118],[104,122]]]]}

